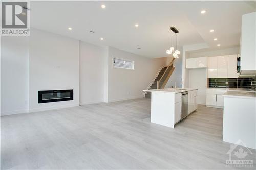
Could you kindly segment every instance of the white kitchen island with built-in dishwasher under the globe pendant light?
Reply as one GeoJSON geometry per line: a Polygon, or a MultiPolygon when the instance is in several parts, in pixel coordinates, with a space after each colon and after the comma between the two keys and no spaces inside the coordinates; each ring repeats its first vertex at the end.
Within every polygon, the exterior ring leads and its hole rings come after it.
{"type": "Polygon", "coordinates": [[[151,122],[170,128],[197,109],[197,89],[166,88],[151,92],[151,122]]]}

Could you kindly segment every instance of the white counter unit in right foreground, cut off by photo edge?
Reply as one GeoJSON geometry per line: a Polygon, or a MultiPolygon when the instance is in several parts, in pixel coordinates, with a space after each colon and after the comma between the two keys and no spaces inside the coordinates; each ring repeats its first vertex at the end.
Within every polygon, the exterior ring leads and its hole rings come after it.
{"type": "Polygon", "coordinates": [[[256,149],[256,92],[230,90],[223,94],[223,141],[242,141],[256,149]]]}

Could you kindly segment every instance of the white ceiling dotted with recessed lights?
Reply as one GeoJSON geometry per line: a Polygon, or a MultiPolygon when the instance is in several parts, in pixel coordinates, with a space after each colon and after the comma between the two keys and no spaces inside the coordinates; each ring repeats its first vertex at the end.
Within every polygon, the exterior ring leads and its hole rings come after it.
{"type": "Polygon", "coordinates": [[[218,43],[218,48],[238,46],[241,16],[256,9],[255,2],[245,1],[33,1],[30,8],[33,28],[151,58],[167,56],[171,26],[180,31],[180,50],[196,43],[211,50],[218,43]]]}

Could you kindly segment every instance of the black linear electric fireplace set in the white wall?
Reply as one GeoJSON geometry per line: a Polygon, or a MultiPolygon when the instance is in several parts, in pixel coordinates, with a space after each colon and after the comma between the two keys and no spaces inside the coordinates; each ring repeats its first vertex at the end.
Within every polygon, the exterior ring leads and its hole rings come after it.
{"type": "Polygon", "coordinates": [[[38,91],[38,103],[73,100],[73,90],[44,90],[38,91]]]}

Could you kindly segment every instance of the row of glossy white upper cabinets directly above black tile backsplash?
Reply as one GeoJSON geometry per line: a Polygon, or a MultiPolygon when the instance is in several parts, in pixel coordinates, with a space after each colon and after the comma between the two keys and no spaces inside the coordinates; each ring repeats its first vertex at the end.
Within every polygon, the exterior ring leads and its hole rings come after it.
{"type": "Polygon", "coordinates": [[[237,77],[237,54],[208,58],[208,78],[237,77]]]}

